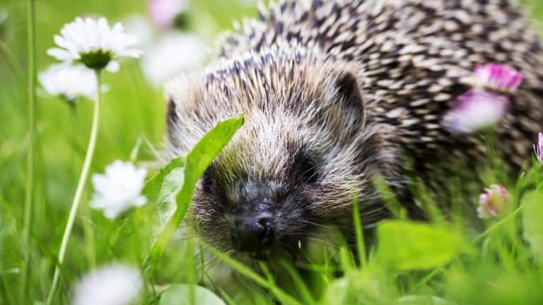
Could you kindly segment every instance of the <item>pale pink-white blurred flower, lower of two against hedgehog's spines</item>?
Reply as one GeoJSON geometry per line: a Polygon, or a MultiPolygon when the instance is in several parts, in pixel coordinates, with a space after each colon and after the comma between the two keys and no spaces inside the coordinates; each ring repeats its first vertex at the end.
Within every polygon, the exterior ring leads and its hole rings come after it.
{"type": "Polygon", "coordinates": [[[457,105],[443,117],[450,133],[473,133],[494,126],[506,113],[509,100],[496,92],[476,88],[457,97],[457,105]]]}

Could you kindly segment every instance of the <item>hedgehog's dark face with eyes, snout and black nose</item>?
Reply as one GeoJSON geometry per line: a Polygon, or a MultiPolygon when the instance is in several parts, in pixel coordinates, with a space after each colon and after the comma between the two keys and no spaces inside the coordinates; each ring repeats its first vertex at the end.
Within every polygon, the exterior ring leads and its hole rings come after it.
{"type": "Polygon", "coordinates": [[[204,237],[264,258],[292,251],[310,233],[319,204],[315,194],[325,176],[322,157],[288,132],[290,124],[270,126],[259,119],[247,117],[245,132],[206,170],[193,207],[204,237]]]}

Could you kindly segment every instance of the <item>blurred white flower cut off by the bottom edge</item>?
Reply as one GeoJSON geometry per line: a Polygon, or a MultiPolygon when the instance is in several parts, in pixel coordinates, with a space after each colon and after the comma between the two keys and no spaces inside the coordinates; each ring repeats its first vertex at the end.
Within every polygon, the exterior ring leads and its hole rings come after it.
{"type": "Polygon", "coordinates": [[[144,282],[127,265],[107,265],[89,273],[78,283],[74,305],[124,305],[136,301],[144,282]]]}

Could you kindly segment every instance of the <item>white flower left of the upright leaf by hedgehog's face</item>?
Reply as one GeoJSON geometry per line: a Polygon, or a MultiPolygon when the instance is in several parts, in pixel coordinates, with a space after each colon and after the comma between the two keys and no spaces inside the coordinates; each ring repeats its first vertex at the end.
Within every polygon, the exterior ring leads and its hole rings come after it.
{"type": "Polygon", "coordinates": [[[105,174],[93,175],[95,193],[91,208],[104,210],[107,218],[117,217],[129,208],[138,208],[147,202],[141,196],[147,170],[136,168],[130,162],[117,160],[105,167],[105,174]]]}

